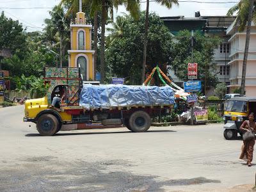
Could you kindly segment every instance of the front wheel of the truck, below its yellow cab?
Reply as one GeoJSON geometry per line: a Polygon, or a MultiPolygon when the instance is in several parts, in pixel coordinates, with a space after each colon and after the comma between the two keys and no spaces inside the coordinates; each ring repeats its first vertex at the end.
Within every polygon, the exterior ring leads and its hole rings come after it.
{"type": "Polygon", "coordinates": [[[36,129],[41,136],[53,136],[56,132],[60,131],[60,122],[58,122],[56,116],[44,114],[38,118],[36,129]]]}

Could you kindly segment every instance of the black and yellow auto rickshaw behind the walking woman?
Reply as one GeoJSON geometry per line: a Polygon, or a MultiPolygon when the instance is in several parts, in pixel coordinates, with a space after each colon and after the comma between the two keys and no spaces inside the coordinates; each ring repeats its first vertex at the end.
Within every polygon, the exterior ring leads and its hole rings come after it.
{"type": "Polygon", "coordinates": [[[250,113],[256,113],[256,97],[235,97],[228,99],[224,103],[224,138],[232,140],[241,136],[243,133],[239,130],[244,120],[248,120],[250,113]]]}

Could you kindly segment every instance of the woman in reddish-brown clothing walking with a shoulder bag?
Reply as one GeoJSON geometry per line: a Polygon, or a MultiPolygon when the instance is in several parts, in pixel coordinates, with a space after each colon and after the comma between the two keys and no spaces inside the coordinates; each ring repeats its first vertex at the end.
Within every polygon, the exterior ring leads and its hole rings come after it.
{"type": "MultiPolygon", "coordinates": [[[[245,120],[243,122],[243,124],[240,127],[240,130],[243,132],[252,131],[253,134],[256,132],[256,124],[254,122],[253,113],[250,113],[249,120],[245,120]]],[[[246,164],[248,164],[248,166],[252,166],[254,144],[255,144],[255,137],[253,137],[251,140],[244,141],[244,144],[242,146],[242,152],[239,158],[243,159],[244,161],[247,161],[246,164]]]]}

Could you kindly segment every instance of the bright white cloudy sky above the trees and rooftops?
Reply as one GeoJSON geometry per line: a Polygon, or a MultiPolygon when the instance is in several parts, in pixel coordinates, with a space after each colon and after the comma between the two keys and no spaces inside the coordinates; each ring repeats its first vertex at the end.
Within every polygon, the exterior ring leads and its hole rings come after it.
{"type": "MultiPolygon", "coordinates": [[[[235,2],[238,0],[195,1],[200,1],[203,3],[181,2],[180,0],[179,6],[174,5],[170,10],[155,2],[150,2],[150,12],[156,12],[160,17],[177,15],[195,17],[195,12],[198,11],[200,11],[200,14],[204,16],[226,15],[228,8],[236,4],[235,2]],[[209,4],[206,2],[221,2],[223,4],[209,4]],[[232,3],[224,4],[224,2],[232,3]]],[[[19,20],[19,22],[22,22],[23,26],[27,27],[27,31],[42,31],[42,28],[44,28],[44,20],[49,18],[49,11],[58,3],[60,3],[60,0],[0,0],[0,11],[4,11],[6,17],[11,17],[13,20],[19,20]]],[[[146,3],[141,3],[141,10],[145,9],[146,3]]],[[[125,8],[121,6],[115,12],[115,17],[117,15],[122,15],[123,12],[125,12],[125,8]]]]}

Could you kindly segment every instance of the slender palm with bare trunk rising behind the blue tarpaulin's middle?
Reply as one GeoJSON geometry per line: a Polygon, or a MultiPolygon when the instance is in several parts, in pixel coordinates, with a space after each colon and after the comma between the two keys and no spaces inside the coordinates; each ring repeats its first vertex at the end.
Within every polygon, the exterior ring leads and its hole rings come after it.
{"type": "MultiPolygon", "coordinates": [[[[145,69],[147,63],[147,42],[148,42],[148,12],[149,12],[149,1],[147,0],[147,9],[146,9],[146,18],[145,18],[145,33],[144,33],[144,47],[143,47],[143,62],[142,62],[142,72],[141,72],[141,83],[145,80],[145,69]]],[[[167,8],[172,8],[173,4],[177,4],[178,0],[156,0],[156,3],[159,3],[167,8]]]]}

